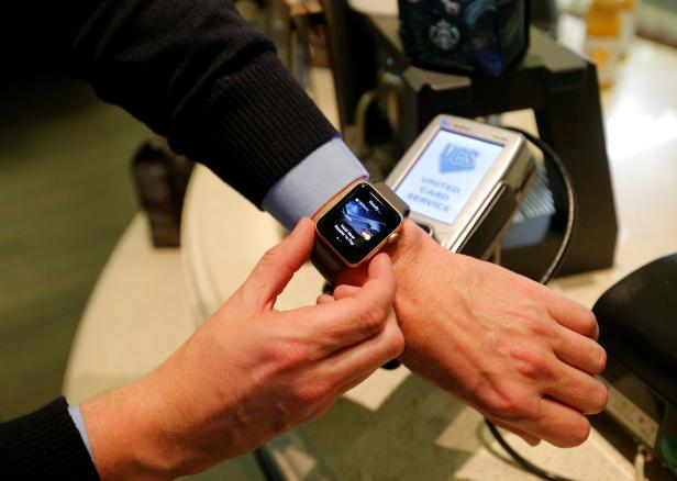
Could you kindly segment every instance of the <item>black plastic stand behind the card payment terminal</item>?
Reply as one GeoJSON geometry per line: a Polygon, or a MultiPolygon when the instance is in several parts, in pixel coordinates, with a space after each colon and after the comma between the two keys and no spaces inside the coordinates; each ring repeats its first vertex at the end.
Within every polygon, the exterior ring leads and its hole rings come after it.
{"type": "MultiPolygon", "coordinates": [[[[365,18],[376,41],[381,68],[401,77],[399,132],[408,146],[440,113],[466,118],[533,110],[540,137],[566,164],[578,199],[578,222],[559,276],[609,267],[613,262],[617,216],[604,143],[597,70],[587,59],[532,29],[522,64],[501,78],[446,74],[410,64],[398,35],[398,19],[365,18]]],[[[507,249],[502,262],[537,277],[555,253],[565,192],[553,188],[557,215],[543,243],[507,249]]]]}

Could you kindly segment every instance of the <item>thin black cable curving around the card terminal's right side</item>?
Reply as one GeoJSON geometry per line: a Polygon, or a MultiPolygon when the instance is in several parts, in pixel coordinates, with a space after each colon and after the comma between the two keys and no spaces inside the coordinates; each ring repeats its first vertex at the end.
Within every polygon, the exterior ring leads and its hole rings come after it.
{"type": "MultiPolygon", "coordinates": [[[[566,169],[566,166],[564,165],[564,163],[557,155],[557,153],[550,145],[541,141],[539,137],[530,134],[529,132],[524,132],[521,128],[517,128],[517,127],[504,127],[504,128],[522,134],[529,142],[531,142],[532,144],[534,144],[536,147],[541,149],[541,152],[543,153],[544,161],[546,163],[550,161],[557,169],[559,176],[562,177],[562,181],[564,183],[564,188],[566,191],[566,198],[567,198],[566,228],[564,231],[564,235],[562,236],[562,243],[559,244],[559,248],[557,249],[557,253],[555,254],[553,261],[551,262],[550,267],[545,270],[545,272],[540,279],[540,282],[545,286],[555,276],[555,273],[562,266],[564,256],[566,255],[569,248],[571,235],[574,234],[574,227],[576,225],[576,210],[577,210],[574,183],[571,181],[571,177],[569,176],[568,170],[566,169]]],[[[498,430],[498,428],[496,427],[493,423],[491,423],[487,418],[485,418],[485,422],[487,423],[487,426],[489,426],[489,430],[491,432],[496,440],[501,445],[501,447],[512,457],[512,459],[514,459],[526,471],[531,472],[532,474],[537,476],[539,478],[545,479],[545,480],[573,481],[569,478],[564,478],[553,472],[550,472],[543,468],[540,468],[536,465],[523,458],[519,452],[517,452],[512,448],[512,446],[508,444],[506,438],[503,438],[503,436],[501,435],[501,433],[498,430]]]]}

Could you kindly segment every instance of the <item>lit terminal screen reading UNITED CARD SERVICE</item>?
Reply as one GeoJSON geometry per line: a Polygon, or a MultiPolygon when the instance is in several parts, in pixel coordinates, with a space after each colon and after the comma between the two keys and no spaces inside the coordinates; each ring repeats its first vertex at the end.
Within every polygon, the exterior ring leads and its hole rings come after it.
{"type": "Polygon", "coordinates": [[[395,189],[413,212],[453,224],[503,146],[440,130],[395,189]]]}

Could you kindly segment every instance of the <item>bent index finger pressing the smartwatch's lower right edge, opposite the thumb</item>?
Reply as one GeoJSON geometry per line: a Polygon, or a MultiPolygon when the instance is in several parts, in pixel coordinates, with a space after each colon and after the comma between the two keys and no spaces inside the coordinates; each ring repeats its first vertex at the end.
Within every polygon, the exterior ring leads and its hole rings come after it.
{"type": "Polygon", "coordinates": [[[392,310],[395,289],[390,259],[379,255],[369,265],[369,279],[355,295],[297,309],[291,322],[315,345],[315,358],[326,357],[382,331],[392,310]]]}

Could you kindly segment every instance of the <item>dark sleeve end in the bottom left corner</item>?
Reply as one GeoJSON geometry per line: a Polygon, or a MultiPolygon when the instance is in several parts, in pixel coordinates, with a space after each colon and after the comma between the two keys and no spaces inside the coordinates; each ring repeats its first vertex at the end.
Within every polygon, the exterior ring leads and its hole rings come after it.
{"type": "Polygon", "coordinates": [[[64,398],[0,424],[0,478],[99,479],[64,398]]]}

